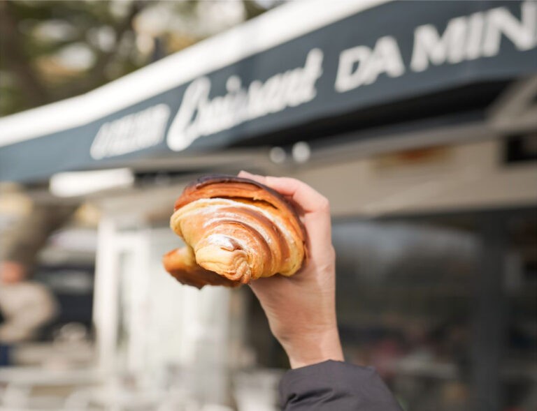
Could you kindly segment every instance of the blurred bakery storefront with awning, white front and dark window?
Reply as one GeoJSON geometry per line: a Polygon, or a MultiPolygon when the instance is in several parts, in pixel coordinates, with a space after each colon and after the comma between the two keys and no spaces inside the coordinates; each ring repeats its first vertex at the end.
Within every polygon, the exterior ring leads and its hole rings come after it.
{"type": "Polygon", "coordinates": [[[249,290],[161,265],[185,184],[245,169],[329,197],[346,357],[406,410],[533,410],[536,96],[534,2],[295,2],[0,119],[0,177],[120,182],[77,193],[102,212],[103,371],[271,409],[287,364],[249,290]]]}

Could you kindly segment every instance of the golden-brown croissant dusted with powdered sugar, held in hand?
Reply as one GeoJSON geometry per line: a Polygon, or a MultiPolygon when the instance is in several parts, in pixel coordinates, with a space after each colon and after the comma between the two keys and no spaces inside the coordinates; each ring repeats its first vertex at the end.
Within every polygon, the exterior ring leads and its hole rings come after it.
{"type": "Polygon", "coordinates": [[[186,246],[166,253],[164,268],[198,288],[292,276],[306,258],[306,231],[294,208],[250,179],[212,175],[194,181],[178,197],[170,226],[186,246]]]}

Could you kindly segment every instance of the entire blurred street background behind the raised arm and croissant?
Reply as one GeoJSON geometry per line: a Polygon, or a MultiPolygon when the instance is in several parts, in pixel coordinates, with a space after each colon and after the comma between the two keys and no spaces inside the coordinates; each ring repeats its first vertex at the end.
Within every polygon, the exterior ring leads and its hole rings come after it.
{"type": "Polygon", "coordinates": [[[537,3],[0,0],[0,410],[278,410],[248,287],[180,285],[201,174],[329,197],[345,357],[537,409],[537,3]]]}

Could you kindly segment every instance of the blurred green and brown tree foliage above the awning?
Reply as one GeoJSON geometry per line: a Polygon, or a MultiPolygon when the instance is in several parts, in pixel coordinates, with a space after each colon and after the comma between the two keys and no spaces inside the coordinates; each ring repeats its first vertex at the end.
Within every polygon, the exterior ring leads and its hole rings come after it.
{"type": "Polygon", "coordinates": [[[0,0],[0,116],[83,94],[265,7],[248,0],[0,0]],[[220,9],[235,17],[215,24],[220,9]]]}

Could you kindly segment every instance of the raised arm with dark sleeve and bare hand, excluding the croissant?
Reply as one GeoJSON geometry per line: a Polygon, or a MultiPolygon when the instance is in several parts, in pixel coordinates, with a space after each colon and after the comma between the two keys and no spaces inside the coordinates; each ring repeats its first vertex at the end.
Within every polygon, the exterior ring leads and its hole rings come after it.
{"type": "Polygon", "coordinates": [[[252,282],[268,324],[291,364],[280,383],[285,411],[401,411],[370,367],[344,362],[336,320],[336,254],[329,202],[289,178],[241,172],[284,195],[301,210],[308,233],[308,263],[291,277],[252,282]]]}

